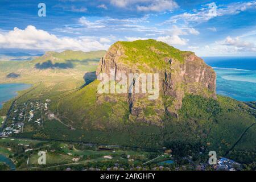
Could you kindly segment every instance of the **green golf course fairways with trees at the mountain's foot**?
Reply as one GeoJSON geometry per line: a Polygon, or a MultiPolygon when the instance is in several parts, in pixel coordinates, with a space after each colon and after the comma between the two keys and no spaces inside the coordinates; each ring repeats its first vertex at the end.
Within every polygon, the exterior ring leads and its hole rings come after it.
{"type": "MultiPolygon", "coordinates": [[[[82,143],[42,142],[39,140],[5,138],[0,142],[0,153],[9,156],[20,169],[47,169],[57,166],[98,166],[114,167],[119,163],[123,167],[139,166],[161,154],[161,152],[148,152],[132,150],[129,148],[114,147],[110,151],[98,150],[102,146],[88,146],[82,143]],[[31,148],[30,151],[25,151],[31,148]],[[38,164],[38,152],[46,152],[46,166],[38,164]],[[111,156],[107,159],[104,156],[111,156]],[[129,158],[127,158],[129,156],[129,158]]],[[[160,161],[166,158],[160,159],[160,161]]],[[[158,162],[158,161],[156,161],[158,162]]],[[[156,164],[156,163],[154,163],[156,164]]],[[[66,167],[67,168],[67,167],[66,167]]],[[[65,168],[64,168],[65,169],[65,168]]]]}

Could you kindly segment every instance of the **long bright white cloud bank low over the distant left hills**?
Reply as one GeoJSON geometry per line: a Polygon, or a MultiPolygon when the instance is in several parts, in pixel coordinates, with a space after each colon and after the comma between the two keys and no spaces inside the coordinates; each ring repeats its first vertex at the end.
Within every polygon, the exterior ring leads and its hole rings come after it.
{"type": "Polygon", "coordinates": [[[108,49],[110,45],[102,44],[95,38],[58,38],[47,31],[27,26],[24,30],[14,28],[9,32],[0,32],[0,48],[22,48],[42,51],[64,51],[65,49],[92,51],[108,49]]]}

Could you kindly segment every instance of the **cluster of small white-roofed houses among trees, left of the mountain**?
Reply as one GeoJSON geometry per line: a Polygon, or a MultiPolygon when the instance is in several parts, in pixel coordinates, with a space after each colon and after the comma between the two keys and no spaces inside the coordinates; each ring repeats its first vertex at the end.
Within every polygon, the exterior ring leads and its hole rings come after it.
{"type": "MultiPolygon", "coordinates": [[[[5,126],[3,126],[0,136],[9,137],[12,134],[23,133],[24,125],[32,125],[35,128],[43,126],[44,116],[54,117],[49,111],[51,100],[28,101],[23,104],[15,104],[11,111],[5,126]]],[[[2,122],[4,124],[4,122],[2,122]]]]}

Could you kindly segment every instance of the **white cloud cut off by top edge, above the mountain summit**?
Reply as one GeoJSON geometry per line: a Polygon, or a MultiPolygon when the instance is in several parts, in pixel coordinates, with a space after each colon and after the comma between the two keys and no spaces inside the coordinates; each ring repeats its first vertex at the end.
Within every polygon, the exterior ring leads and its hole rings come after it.
{"type": "Polygon", "coordinates": [[[160,12],[179,7],[174,0],[110,0],[110,3],[122,8],[133,7],[138,11],[160,12]]]}

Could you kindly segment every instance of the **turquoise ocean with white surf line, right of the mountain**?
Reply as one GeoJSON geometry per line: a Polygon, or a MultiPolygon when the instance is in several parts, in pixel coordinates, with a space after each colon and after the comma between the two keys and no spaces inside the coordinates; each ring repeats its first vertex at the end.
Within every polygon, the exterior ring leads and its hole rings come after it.
{"type": "Polygon", "coordinates": [[[217,73],[217,94],[256,101],[256,57],[202,57],[217,73]]]}

